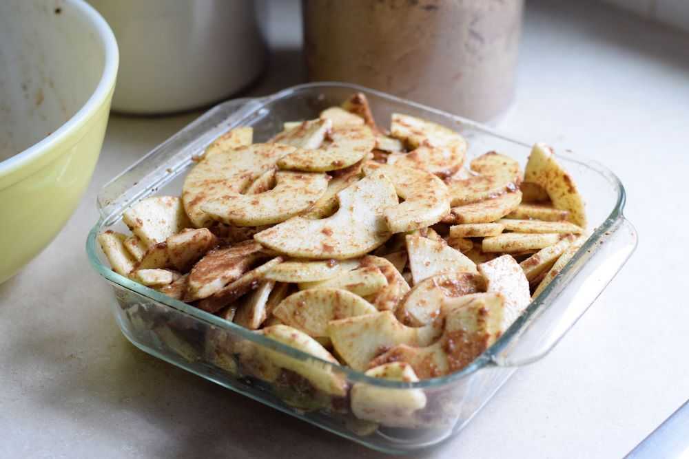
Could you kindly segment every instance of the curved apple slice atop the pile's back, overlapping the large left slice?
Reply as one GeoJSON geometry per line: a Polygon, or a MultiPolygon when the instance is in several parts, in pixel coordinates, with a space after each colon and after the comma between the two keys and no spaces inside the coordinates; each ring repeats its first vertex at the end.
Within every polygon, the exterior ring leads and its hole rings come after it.
{"type": "Polygon", "coordinates": [[[376,138],[367,126],[333,127],[329,139],[319,149],[299,149],[280,158],[278,167],[306,172],[344,169],[360,161],[376,145],[376,138]]]}

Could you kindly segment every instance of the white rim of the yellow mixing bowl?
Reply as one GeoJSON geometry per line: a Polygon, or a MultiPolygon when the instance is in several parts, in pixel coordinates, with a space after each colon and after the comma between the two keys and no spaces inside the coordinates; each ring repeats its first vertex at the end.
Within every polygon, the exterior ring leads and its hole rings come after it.
{"type": "Polygon", "coordinates": [[[6,160],[0,161],[0,176],[9,175],[21,167],[30,164],[30,162],[41,158],[41,156],[48,154],[49,151],[59,145],[59,143],[67,138],[73,131],[76,131],[85,120],[93,116],[96,111],[101,108],[114,87],[119,65],[119,49],[117,47],[115,35],[110,29],[110,25],[107,24],[105,19],[103,19],[95,8],[84,0],[65,0],[65,3],[73,6],[74,10],[79,12],[81,17],[86,19],[94,32],[96,32],[96,36],[100,40],[101,46],[105,51],[103,74],[101,74],[101,79],[98,85],[96,85],[94,92],[69,120],[55,129],[50,135],[39,140],[39,142],[10,156],[10,158],[6,160]]]}

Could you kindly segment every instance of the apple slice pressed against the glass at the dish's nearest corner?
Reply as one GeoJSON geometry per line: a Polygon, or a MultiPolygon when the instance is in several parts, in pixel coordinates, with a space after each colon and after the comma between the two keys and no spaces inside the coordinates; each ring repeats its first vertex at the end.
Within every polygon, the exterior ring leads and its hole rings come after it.
{"type": "MultiPolygon", "coordinates": [[[[419,378],[411,365],[391,362],[373,367],[366,376],[404,383],[416,383],[419,378]]],[[[422,389],[391,389],[367,383],[355,383],[349,394],[351,412],[359,419],[371,420],[386,427],[418,427],[415,412],[426,406],[426,394],[422,389]]]]}

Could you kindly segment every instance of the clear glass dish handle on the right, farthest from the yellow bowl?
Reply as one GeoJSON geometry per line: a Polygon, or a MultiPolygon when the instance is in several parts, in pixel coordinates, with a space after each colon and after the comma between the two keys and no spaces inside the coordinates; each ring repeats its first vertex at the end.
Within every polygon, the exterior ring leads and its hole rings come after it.
{"type": "Polygon", "coordinates": [[[551,295],[555,295],[553,303],[542,308],[539,306],[545,305],[537,301],[531,304],[537,314],[531,314],[523,331],[493,356],[493,365],[526,365],[550,352],[624,266],[636,246],[637,232],[622,216],[608,231],[590,238],[579,250],[581,256],[575,255],[549,286],[551,295]]]}

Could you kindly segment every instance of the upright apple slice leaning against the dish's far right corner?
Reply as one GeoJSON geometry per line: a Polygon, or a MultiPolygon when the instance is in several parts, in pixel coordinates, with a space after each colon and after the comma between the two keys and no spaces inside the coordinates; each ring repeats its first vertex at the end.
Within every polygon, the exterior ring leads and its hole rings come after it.
{"type": "Polygon", "coordinates": [[[555,160],[553,149],[537,143],[528,156],[524,180],[546,190],[555,209],[569,212],[569,221],[586,228],[584,200],[572,177],[555,160]]]}

